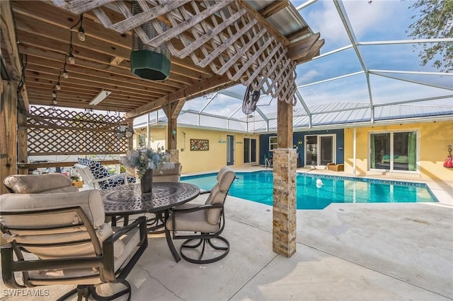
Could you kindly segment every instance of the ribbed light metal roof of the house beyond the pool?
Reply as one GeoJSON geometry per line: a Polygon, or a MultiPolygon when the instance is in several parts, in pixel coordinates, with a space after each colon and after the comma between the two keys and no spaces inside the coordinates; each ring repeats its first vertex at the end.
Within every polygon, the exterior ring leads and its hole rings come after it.
{"type": "MultiPolygon", "coordinates": [[[[312,114],[311,125],[309,114],[305,110],[295,110],[293,115],[294,131],[309,130],[323,127],[362,126],[371,125],[371,108],[367,103],[336,102],[328,105],[309,107],[312,114]]],[[[164,112],[154,112],[149,121],[151,126],[167,124],[164,112]]],[[[420,122],[444,118],[453,121],[453,107],[440,105],[389,105],[377,107],[374,111],[374,124],[388,122],[420,122]]],[[[135,128],[146,126],[146,120],[134,123],[135,128]]],[[[178,117],[178,126],[202,127],[206,129],[226,129],[264,133],[277,130],[277,114],[260,114],[231,119],[215,114],[199,113],[194,110],[183,110],[178,117]],[[266,120],[267,119],[267,120],[266,120]]]]}

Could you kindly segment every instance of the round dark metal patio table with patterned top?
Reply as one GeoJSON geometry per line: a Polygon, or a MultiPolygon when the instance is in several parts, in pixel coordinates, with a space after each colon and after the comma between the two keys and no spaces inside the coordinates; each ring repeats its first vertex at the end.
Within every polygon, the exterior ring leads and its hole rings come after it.
{"type": "MultiPolygon", "coordinates": [[[[156,216],[164,214],[164,221],[168,218],[171,208],[191,201],[199,194],[199,187],[181,182],[155,182],[149,193],[142,193],[140,184],[125,184],[101,190],[105,216],[155,213],[156,216]]],[[[165,237],[173,258],[176,262],[180,261],[171,234],[166,229],[165,237]]]]}

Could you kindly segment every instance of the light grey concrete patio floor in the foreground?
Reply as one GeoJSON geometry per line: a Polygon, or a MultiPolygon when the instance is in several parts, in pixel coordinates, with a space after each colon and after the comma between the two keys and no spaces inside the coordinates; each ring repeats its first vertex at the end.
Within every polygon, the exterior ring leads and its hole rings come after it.
{"type": "MultiPolygon", "coordinates": [[[[207,265],[176,263],[165,238],[150,235],[127,278],[132,300],[453,300],[451,188],[440,184],[440,203],[299,210],[290,258],[272,251],[272,207],[228,196],[228,256],[207,265]]],[[[47,297],[3,290],[0,300],[55,300],[69,288],[47,287],[47,297]]]]}

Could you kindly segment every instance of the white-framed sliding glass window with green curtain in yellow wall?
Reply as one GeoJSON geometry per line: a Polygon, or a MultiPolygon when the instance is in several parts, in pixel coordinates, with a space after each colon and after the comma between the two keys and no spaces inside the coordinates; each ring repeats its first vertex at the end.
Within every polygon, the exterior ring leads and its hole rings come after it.
{"type": "Polygon", "coordinates": [[[417,171],[417,131],[389,131],[369,134],[369,168],[417,171]]]}

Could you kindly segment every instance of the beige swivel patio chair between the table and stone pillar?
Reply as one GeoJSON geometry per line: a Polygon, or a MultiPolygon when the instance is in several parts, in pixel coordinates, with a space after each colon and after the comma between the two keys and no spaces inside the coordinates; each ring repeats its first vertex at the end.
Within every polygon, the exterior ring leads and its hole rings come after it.
{"type": "Polygon", "coordinates": [[[209,264],[228,254],[229,242],[220,234],[225,226],[224,202],[235,177],[233,170],[222,167],[217,184],[211,191],[205,191],[210,195],[204,204],[190,202],[171,210],[166,231],[172,232],[173,239],[185,239],[180,246],[180,256],[186,261],[209,264]],[[213,251],[210,254],[207,254],[207,244],[214,249],[210,249],[213,251]]]}

